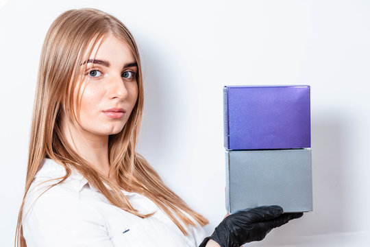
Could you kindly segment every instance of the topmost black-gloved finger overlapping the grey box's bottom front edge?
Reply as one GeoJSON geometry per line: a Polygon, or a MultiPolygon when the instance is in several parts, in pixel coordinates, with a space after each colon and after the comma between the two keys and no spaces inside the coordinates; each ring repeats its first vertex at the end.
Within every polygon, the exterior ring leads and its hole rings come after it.
{"type": "Polygon", "coordinates": [[[282,215],[283,209],[280,206],[273,205],[256,207],[254,209],[245,209],[238,211],[237,213],[240,213],[240,220],[245,220],[249,222],[249,224],[253,224],[255,222],[272,220],[279,217],[282,215]],[[243,216],[245,216],[245,219],[243,219],[243,216]]]}

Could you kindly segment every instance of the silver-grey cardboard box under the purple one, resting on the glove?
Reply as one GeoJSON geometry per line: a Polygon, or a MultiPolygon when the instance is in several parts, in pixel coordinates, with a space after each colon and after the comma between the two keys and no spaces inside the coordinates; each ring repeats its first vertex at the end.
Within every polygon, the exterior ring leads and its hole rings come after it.
{"type": "Polygon", "coordinates": [[[225,151],[229,213],[264,205],[312,211],[311,150],[225,151]]]}

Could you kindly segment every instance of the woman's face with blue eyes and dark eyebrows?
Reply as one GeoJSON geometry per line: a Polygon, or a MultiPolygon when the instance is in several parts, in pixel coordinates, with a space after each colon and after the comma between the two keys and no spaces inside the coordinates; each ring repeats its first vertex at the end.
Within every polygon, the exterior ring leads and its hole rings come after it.
{"type": "MultiPolygon", "coordinates": [[[[81,66],[87,69],[80,75],[81,94],[79,124],[85,132],[109,135],[121,132],[130,117],[138,97],[134,54],[125,42],[107,36],[93,49],[81,66]],[[92,55],[92,56],[93,56],[92,55]]],[[[77,95],[79,84],[75,87],[77,95]]],[[[76,98],[74,99],[76,100],[76,98]]]]}

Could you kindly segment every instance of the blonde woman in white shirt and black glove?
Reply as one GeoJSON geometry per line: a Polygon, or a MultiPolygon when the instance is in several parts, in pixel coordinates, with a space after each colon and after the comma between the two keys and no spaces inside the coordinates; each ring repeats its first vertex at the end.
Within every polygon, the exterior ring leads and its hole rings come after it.
{"type": "Polygon", "coordinates": [[[208,220],[136,152],[143,113],[132,34],[106,12],[69,10],[40,56],[16,246],[240,246],[300,214],[277,206],[208,220]]]}

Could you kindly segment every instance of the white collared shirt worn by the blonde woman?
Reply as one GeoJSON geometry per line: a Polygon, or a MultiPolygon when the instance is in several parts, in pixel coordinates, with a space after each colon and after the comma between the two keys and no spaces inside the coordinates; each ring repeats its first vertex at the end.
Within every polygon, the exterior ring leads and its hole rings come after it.
{"type": "Polygon", "coordinates": [[[27,247],[194,247],[205,237],[199,224],[185,236],[155,203],[138,193],[123,191],[140,213],[156,211],[151,217],[143,219],[115,207],[75,169],[63,183],[40,196],[59,180],[41,182],[65,174],[64,167],[50,158],[45,158],[36,174],[23,209],[27,247]]]}

